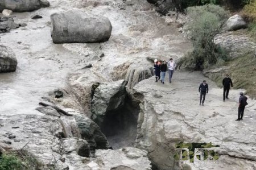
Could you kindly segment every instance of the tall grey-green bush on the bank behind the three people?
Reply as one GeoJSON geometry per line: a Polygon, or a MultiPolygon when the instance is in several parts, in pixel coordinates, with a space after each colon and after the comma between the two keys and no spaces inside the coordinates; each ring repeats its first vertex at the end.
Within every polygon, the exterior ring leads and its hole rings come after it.
{"type": "Polygon", "coordinates": [[[185,30],[191,37],[193,51],[178,64],[185,68],[203,69],[218,60],[228,60],[225,49],[213,42],[228,19],[228,13],[220,6],[204,5],[188,7],[188,16],[192,20],[186,24],[185,30]]]}

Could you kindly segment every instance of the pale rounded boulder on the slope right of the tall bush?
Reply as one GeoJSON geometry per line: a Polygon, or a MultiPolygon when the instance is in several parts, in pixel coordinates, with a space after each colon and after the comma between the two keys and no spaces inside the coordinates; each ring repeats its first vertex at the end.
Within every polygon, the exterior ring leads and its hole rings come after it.
{"type": "Polygon", "coordinates": [[[227,20],[226,27],[228,28],[228,31],[235,31],[246,28],[247,23],[240,15],[233,15],[227,20]]]}

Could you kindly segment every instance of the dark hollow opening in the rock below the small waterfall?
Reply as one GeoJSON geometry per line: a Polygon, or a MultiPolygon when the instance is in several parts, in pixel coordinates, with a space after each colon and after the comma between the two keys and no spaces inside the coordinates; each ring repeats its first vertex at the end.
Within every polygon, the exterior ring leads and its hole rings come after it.
{"type": "Polygon", "coordinates": [[[133,101],[127,95],[121,107],[106,113],[101,131],[113,149],[134,146],[139,111],[139,102],[133,101]]]}

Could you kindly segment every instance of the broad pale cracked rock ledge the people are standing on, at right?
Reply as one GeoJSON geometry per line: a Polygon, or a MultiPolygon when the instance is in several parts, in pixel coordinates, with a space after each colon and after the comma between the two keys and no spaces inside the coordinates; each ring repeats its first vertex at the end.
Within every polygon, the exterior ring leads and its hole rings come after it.
{"type": "Polygon", "coordinates": [[[255,169],[255,101],[249,101],[243,121],[237,122],[239,91],[232,90],[222,101],[222,89],[207,80],[209,93],[205,106],[199,105],[198,88],[205,79],[192,72],[175,72],[171,84],[154,82],[154,77],[139,82],[134,94],[142,94],[138,119],[137,147],[149,152],[159,169],[255,169]],[[189,94],[189,95],[188,95],[189,94]],[[218,160],[176,161],[175,144],[210,143],[218,160]]]}

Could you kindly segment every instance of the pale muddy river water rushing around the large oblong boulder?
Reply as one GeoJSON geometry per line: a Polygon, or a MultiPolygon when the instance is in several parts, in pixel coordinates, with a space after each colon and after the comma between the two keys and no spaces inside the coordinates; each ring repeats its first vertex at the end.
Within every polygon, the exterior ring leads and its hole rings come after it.
{"type": "Polygon", "coordinates": [[[95,72],[109,80],[112,68],[126,61],[145,63],[147,56],[180,57],[191,47],[179,35],[175,24],[164,23],[146,0],[50,3],[50,7],[31,13],[14,13],[15,22],[27,26],[0,35],[0,43],[11,47],[18,60],[16,72],[0,74],[1,114],[40,114],[35,110],[40,97],[65,87],[68,73],[78,73],[88,63],[94,64],[95,72]],[[52,43],[50,15],[77,7],[110,19],[113,30],[108,42],[52,43]],[[31,19],[35,14],[43,18],[31,19]],[[101,53],[105,56],[98,61],[101,53]]]}

